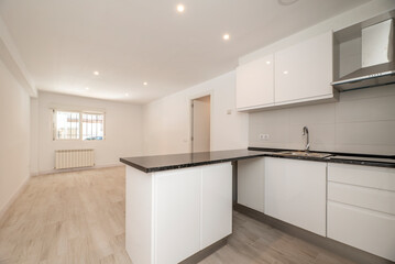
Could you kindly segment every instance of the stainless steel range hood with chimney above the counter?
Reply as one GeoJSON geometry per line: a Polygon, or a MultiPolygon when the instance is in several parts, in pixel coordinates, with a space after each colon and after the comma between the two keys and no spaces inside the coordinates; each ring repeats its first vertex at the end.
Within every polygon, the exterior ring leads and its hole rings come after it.
{"type": "Polygon", "coordinates": [[[350,34],[361,38],[361,67],[331,82],[336,89],[344,91],[395,84],[393,18],[394,10],[339,32],[340,38],[350,34]]]}

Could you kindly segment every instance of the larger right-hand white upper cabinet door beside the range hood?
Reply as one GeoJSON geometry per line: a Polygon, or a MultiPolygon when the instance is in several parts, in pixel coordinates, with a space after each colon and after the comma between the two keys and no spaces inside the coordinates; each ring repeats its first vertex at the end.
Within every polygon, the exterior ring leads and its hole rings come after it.
{"type": "Polygon", "coordinates": [[[275,53],[275,105],[333,97],[332,32],[275,53]]]}

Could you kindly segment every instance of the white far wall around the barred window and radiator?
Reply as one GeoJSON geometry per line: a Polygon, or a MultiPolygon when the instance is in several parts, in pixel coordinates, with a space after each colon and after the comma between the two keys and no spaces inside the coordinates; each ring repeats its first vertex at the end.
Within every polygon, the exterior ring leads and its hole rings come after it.
{"type": "MultiPolygon", "coordinates": [[[[34,103],[32,102],[32,107],[34,107],[34,103]]],[[[32,110],[32,121],[34,120],[37,120],[39,136],[36,138],[36,154],[33,156],[36,161],[31,163],[32,174],[48,173],[54,169],[55,150],[95,148],[96,166],[120,164],[119,158],[122,156],[136,156],[143,153],[141,106],[40,92],[37,110],[32,110]],[[51,108],[105,111],[106,140],[54,141],[51,108]],[[37,117],[34,117],[34,114],[37,114],[37,117]],[[35,166],[34,164],[37,165],[35,166]]],[[[34,145],[34,142],[32,142],[32,145],[34,145]]]]}

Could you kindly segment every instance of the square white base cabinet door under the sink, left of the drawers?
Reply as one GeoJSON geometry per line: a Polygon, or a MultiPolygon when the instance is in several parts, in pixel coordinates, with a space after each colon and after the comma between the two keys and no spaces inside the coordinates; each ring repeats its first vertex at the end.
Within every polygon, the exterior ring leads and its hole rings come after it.
{"type": "Polygon", "coordinates": [[[327,163],[265,157],[264,213],[326,235],[327,163]]]}

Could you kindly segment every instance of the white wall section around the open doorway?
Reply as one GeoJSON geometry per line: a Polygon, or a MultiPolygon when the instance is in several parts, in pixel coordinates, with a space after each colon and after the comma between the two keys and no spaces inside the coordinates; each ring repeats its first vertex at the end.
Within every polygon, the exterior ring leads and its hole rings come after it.
{"type": "Polygon", "coordinates": [[[235,111],[235,74],[230,72],[145,105],[144,154],[190,152],[190,100],[207,94],[211,94],[211,151],[245,148],[248,114],[235,111]]]}

